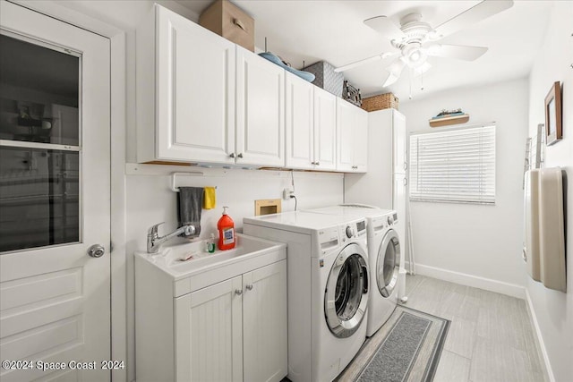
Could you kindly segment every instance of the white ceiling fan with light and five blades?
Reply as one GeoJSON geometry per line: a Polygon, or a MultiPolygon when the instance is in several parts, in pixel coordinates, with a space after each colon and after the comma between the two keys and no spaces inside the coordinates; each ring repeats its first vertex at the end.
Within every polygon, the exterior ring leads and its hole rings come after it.
{"type": "Polygon", "coordinates": [[[427,62],[428,56],[474,61],[487,51],[487,47],[439,44],[437,41],[470,24],[505,11],[512,5],[512,0],[484,0],[436,28],[432,28],[430,24],[422,21],[421,13],[406,14],[400,19],[399,27],[387,16],[372,17],[365,20],[364,23],[388,38],[389,50],[381,55],[374,55],[355,63],[340,66],[334,71],[345,72],[362,64],[394,56],[394,60],[386,66],[388,76],[383,86],[387,87],[398,81],[406,66],[415,75],[427,72],[432,67],[427,62]]]}

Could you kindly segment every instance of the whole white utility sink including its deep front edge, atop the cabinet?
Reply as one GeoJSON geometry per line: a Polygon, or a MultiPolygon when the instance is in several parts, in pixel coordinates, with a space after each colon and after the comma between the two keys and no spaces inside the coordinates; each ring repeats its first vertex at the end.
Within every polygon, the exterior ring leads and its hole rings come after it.
{"type": "Polygon", "coordinates": [[[192,292],[204,282],[225,280],[246,268],[263,267],[269,263],[286,259],[286,244],[270,242],[236,234],[233,250],[205,251],[206,242],[187,242],[162,245],[158,253],[135,252],[136,272],[150,268],[161,271],[175,283],[174,296],[192,292]],[[151,267],[150,267],[151,266],[151,267]]]}

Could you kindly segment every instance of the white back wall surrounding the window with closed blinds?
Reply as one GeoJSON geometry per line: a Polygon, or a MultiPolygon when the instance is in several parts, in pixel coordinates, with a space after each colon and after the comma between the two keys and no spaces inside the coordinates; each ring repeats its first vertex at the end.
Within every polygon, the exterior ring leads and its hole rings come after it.
{"type": "Polygon", "coordinates": [[[466,125],[495,122],[497,126],[495,206],[410,202],[419,273],[523,297],[527,99],[527,81],[518,79],[451,89],[400,106],[408,132],[431,129],[429,118],[458,107],[470,115],[466,125]]]}

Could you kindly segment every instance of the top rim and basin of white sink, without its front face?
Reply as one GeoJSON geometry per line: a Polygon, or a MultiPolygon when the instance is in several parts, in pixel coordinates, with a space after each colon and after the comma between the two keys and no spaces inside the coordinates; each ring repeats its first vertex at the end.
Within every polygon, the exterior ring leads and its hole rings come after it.
{"type": "Polygon", "coordinates": [[[235,262],[261,257],[267,253],[284,250],[285,248],[286,244],[269,242],[237,233],[236,244],[233,250],[215,250],[214,253],[209,253],[205,251],[205,242],[201,241],[184,244],[164,244],[159,248],[158,253],[136,251],[135,256],[146,259],[177,280],[218,267],[225,267],[235,262]]]}

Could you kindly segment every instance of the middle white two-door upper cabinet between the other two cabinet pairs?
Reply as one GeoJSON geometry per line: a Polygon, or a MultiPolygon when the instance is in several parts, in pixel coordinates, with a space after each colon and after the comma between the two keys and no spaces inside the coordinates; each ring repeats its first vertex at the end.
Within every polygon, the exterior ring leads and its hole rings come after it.
{"type": "Polygon", "coordinates": [[[336,97],[286,72],[286,167],[336,168],[336,97]]]}

